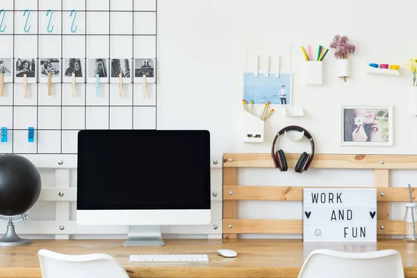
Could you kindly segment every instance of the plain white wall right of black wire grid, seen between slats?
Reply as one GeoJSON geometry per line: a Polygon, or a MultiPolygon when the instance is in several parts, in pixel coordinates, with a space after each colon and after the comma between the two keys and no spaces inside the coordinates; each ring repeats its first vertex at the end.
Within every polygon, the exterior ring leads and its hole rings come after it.
{"type": "MultiPolygon", "coordinates": [[[[297,124],[310,131],[321,154],[416,154],[416,117],[411,116],[411,74],[405,63],[417,56],[417,37],[411,11],[417,2],[277,0],[159,0],[158,100],[159,129],[208,129],[212,152],[270,152],[275,133],[297,124]],[[336,58],[329,51],[324,62],[324,84],[306,86],[300,46],[329,47],[336,33],[357,46],[351,57],[351,78],[336,77],[336,58]],[[284,117],[282,107],[266,122],[265,142],[243,143],[243,70],[250,46],[291,44],[293,105],[306,116],[284,117]],[[366,75],[366,63],[400,65],[400,76],[366,75]],[[176,74],[181,72],[181,74],[176,74]],[[393,147],[342,147],[341,105],[392,105],[393,147]]],[[[317,49],[317,48],[315,48],[317,49]]],[[[262,108],[260,108],[262,109],[262,108]]],[[[260,110],[261,111],[261,110],[260,110]]],[[[309,143],[284,142],[287,153],[309,149],[309,143]]],[[[415,171],[393,171],[392,186],[407,186],[415,171]]],[[[240,185],[373,186],[368,170],[293,169],[243,170],[240,185]]],[[[393,219],[402,219],[403,204],[393,205],[393,219]]],[[[240,202],[240,218],[301,219],[300,202],[240,202]]]]}

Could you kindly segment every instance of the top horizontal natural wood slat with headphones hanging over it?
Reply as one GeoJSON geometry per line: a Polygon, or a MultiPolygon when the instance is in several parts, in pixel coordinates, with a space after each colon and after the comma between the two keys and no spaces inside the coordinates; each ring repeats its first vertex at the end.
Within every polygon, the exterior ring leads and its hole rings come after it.
{"type": "MultiPolygon", "coordinates": [[[[275,167],[271,154],[224,154],[223,167],[275,167]],[[232,161],[229,161],[229,158],[232,161]]],[[[286,154],[288,167],[295,167],[300,154],[286,154]]],[[[417,156],[368,154],[316,154],[311,168],[417,169],[417,156]],[[381,163],[384,161],[384,163],[381,163]]]]}

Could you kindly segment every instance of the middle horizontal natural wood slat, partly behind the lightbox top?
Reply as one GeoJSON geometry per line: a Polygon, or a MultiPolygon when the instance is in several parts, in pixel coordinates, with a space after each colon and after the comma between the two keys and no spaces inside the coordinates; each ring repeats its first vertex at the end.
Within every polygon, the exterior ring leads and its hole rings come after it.
{"type": "MultiPolygon", "coordinates": [[[[384,171],[384,170],[382,170],[384,171]]],[[[302,186],[224,186],[225,200],[264,200],[264,201],[302,201],[302,186]],[[229,191],[233,194],[229,195],[229,191]]],[[[316,188],[309,186],[307,188],[316,188]]],[[[326,187],[327,188],[327,187],[326,187]]],[[[338,188],[338,187],[332,187],[338,188]]],[[[356,187],[355,187],[356,188],[356,187]]],[[[413,199],[417,199],[417,190],[412,188],[413,199]]],[[[408,202],[408,188],[377,188],[378,203],[408,202]],[[382,196],[381,194],[384,193],[382,196]]]]}

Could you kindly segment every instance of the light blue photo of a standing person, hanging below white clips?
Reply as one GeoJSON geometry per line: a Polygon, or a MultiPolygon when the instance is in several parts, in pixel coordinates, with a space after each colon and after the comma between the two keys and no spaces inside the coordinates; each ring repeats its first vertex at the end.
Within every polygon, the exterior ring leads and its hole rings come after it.
{"type": "Polygon", "coordinates": [[[243,73],[243,99],[248,103],[251,100],[254,104],[266,104],[268,101],[272,105],[291,106],[292,97],[292,74],[279,73],[275,74],[258,74],[253,72],[243,73]]]}

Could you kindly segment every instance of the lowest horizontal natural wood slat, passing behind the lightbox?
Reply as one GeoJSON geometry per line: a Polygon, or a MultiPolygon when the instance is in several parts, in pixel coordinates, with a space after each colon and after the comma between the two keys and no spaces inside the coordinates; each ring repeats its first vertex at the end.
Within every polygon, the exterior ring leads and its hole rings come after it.
{"type": "MultiPolygon", "coordinates": [[[[377,234],[402,235],[401,220],[378,220],[377,234]],[[380,227],[384,229],[380,229],[380,227]]],[[[302,234],[302,220],[224,219],[223,233],[302,234]],[[229,228],[231,225],[231,228],[229,228]]]]}

